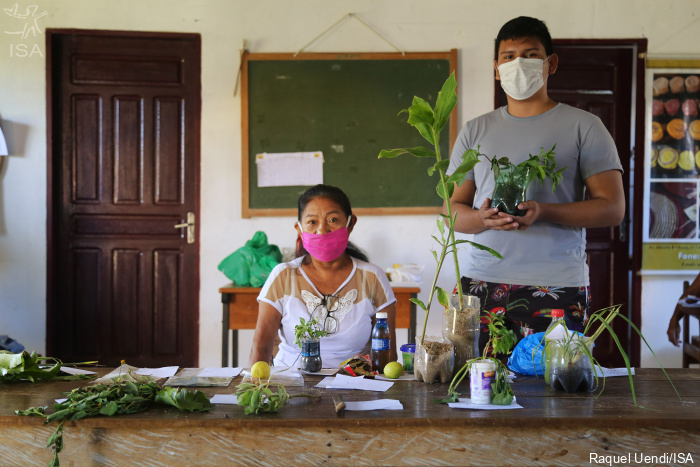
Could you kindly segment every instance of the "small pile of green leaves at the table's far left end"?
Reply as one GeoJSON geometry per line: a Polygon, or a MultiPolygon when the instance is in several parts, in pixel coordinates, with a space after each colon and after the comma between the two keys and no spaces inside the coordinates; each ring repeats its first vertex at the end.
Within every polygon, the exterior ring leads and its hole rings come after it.
{"type": "MultiPolygon", "coordinates": [[[[94,363],[94,362],[85,362],[94,363]]],[[[14,383],[17,381],[60,379],[64,381],[76,379],[94,378],[92,375],[58,376],[63,362],[57,358],[39,357],[36,352],[12,353],[0,350],[0,383],[14,383]],[[40,362],[50,362],[50,364],[40,362]]]]}

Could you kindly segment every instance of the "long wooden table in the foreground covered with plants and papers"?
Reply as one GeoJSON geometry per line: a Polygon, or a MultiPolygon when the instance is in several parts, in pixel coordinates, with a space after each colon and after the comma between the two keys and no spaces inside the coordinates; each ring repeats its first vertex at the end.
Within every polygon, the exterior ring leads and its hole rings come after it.
{"type": "MultiPolygon", "coordinates": [[[[194,414],[158,406],[139,414],[67,422],[61,461],[81,466],[569,466],[588,464],[591,454],[690,453],[697,463],[700,372],[673,369],[669,373],[682,402],[660,370],[637,370],[638,401],[647,409],[632,404],[627,378],[608,378],[600,398],[554,392],[542,379],[518,378],[513,389],[524,408],[517,410],[450,409],[432,402],[445,396],[447,385],[417,382],[397,382],[384,393],[321,389],[319,401],[293,399],[278,414],[260,416],[244,415],[243,408],[235,405],[217,405],[209,413],[194,414]],[[346,401],[398,399],[404,409],[336,415],[331,397],[337,393],[346,401]]],[[[305,378],[305,389],[320,380],[305,378]]],[[[201,389],[209,396],[230,394],[236,381],[228,388],[201,389]]],[[[0,384],[2,465],[47,465],[51,453],[46,440],[55,425],[43,425],[42,418],[16,416],[14,410],[51,405],[62,391],[85,384],[0,384]]]]}

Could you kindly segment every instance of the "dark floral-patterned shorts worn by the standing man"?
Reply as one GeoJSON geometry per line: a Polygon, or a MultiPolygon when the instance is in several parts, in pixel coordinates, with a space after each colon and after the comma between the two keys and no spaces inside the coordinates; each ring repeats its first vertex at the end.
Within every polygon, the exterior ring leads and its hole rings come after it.
{"type": "MultiPolygon", "coordinates": [[[[462,277],[462,291],[476,295],[481,301],[481,332],[479,348],[488,341],[486,312],[505,314],[506,326],[518,341],[525,336],[547,330],[552,322],[552,310],[563,309],[566,326],[583,332],[591,303],[590,288],[545,287],[499,284],[462,277]]],[[[456,292],[456,289],[455,289],[456,292]]]]}

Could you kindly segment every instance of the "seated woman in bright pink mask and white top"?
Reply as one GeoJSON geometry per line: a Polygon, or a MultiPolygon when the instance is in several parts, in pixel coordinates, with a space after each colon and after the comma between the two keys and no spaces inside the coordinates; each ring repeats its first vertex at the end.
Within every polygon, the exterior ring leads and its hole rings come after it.
{"type": "Polygon", "coordinates": [[[384,271],[348,243],[356,223],[341,189],[316,185],[301,195],[295,228],[303,246],[297,241],[297,258],[277,265],[260,291],[251,365],[271,360],[275,334],[281,343],[274,365],[299,365],[294,326],[300,318],[316,318],[328,333],[321,338],[324,368],[369,354],[380,310],[388,313],[391,359],[396,360],[396,299],[384,271]]]}

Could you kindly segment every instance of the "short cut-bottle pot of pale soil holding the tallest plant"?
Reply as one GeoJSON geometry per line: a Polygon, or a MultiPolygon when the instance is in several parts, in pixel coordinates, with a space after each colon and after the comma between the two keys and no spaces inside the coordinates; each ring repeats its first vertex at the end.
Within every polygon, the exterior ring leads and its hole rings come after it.
{"type": "Polygon", "coordinates": [[[413,372],[417,381],[448,383],[452,379],[455,357],[454,346],[442,337],[425,336],[423,345],[421,337],[416,336],[416,356],[413,372]]]}

